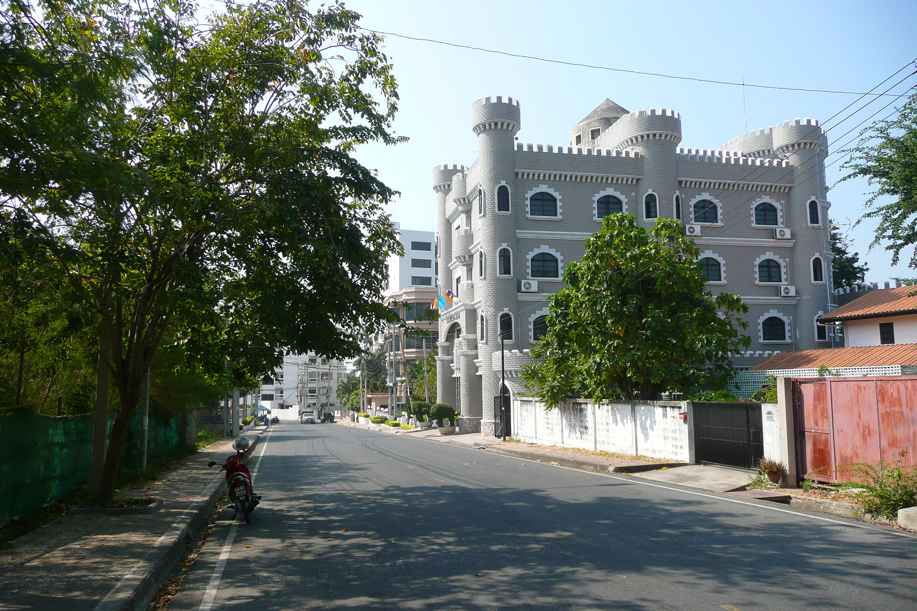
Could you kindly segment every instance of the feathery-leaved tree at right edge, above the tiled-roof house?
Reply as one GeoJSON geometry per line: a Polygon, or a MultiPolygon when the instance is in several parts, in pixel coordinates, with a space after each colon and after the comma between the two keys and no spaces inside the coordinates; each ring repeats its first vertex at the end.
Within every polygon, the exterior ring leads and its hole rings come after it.
{"type": "MultiPolygon", "coordinates": [[[[876,187],[866,202],[863,218],[878,219],[872,245],[887,242],[891,264],[901,250],[917,244],[917,93],[912,93],[893,119],[874,122],[860,132],[856,147],[841,166],[850,170],[839,182],[866,177],[876,187]],[[879,198],[889,197],[888,203],[879,198]]],[[[917,252],[911,253],[910,267],[917,268],[917,252]]]]}

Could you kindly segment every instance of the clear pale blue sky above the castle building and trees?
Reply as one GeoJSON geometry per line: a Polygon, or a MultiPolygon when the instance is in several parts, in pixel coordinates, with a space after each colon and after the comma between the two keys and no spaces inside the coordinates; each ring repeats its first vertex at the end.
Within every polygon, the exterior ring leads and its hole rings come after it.
{"type": "MultiPolygon", "coordinates": [[[[866,92],[917,57],[917,3],[912,0],[348,0],[345,4],[358,11],[363,26],[371,29],[718,81],[744,78],[749,83],[866,92]]],[[[662,106],[679,111],[682,147],[720,147],[744,131],[739,87],[561,66],[394,37],[387,38],[386,51],[400,84],[395,129],[411,140],[396,147],[362,147],[358,157],[402,192],[391,213],[405,229],[434,228],[432,167],[469,165],[477,157],[470,108],[484,95],[511,95],[521,101],[521,142],[567,143],[570,128],[606,97],[628,110],[662,106]]],[[[896,91],[915,84],[917,76],[896,91]]],[[[826,121],[855,99],[746,87],[748,127],[768,127],[796,117],[826,121]]],[[[830,149],[837,150],[855,136],[856,131],[838,140],[884,104],[887,101],[871,104],[853,120],[834,127],[828,133],[830,149]]],[[[827,170],[829,187],[841,176],[840,165],[838,161],[827,170]]],[[[855,222],[863,211],[866,191],[864,180],[834,188],[828,199],[835,222],[855,222]]],[[[881,248],[867,253],[874,226],[864,222],[850,233],[861,260],[869,263],[867,281],[917,275],[903,265],[890,267],[889,254],[881,248]]]]}

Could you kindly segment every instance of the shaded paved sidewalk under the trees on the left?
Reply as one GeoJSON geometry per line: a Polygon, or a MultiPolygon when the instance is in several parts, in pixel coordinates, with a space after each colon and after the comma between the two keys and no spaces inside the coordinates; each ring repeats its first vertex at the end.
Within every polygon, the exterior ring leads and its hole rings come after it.
{"type": "MultiPolygon", "coordinates": [[[[259,431],[246,433],[254,441],[259,431]]],[[[222,495],[224,476],[207,463],[222,462],[233,452],[232,442],[216,442],[162,479],[117,495],[161,498],[159,511],[67,515],[0,550],[0,609],[146,609],[160,586],[160,573],[165,579],[171,572],[171,556],[177,561],[181,553],[176,552],[184,551],[186,533],[200,528],[222,495]]]]}

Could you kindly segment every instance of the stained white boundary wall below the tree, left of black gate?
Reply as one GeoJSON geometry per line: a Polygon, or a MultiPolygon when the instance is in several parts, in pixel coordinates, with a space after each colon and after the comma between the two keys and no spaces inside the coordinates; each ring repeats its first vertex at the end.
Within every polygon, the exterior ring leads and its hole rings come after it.
{"type": "Polygon", "coordinates": [[[571,401],[546,410],[533,398],[514,398],[514,439],[521,442],[694,463],[690,401],[600,403],[571,401]],[[688,421],[679,419],[688,412],[688,421]]]}

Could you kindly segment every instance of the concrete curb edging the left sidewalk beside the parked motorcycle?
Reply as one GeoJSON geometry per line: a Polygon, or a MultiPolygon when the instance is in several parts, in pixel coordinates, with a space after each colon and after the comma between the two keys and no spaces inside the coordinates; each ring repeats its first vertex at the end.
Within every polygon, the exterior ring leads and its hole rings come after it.
{"type": "MultiPolygon", "coordinates": [[[[246,454],[255,451],[261,435],[257,435],[246,454]]],[[[193,539],[213,510],[216,501],[226,492],[226,476],[220,473],[204,488],[182,516],[153,545],[140,561],[105,595],[94,611],[146,611],[149,602],[169,578],[175,565],[182,560],[184,543],[193,539]]]]}

